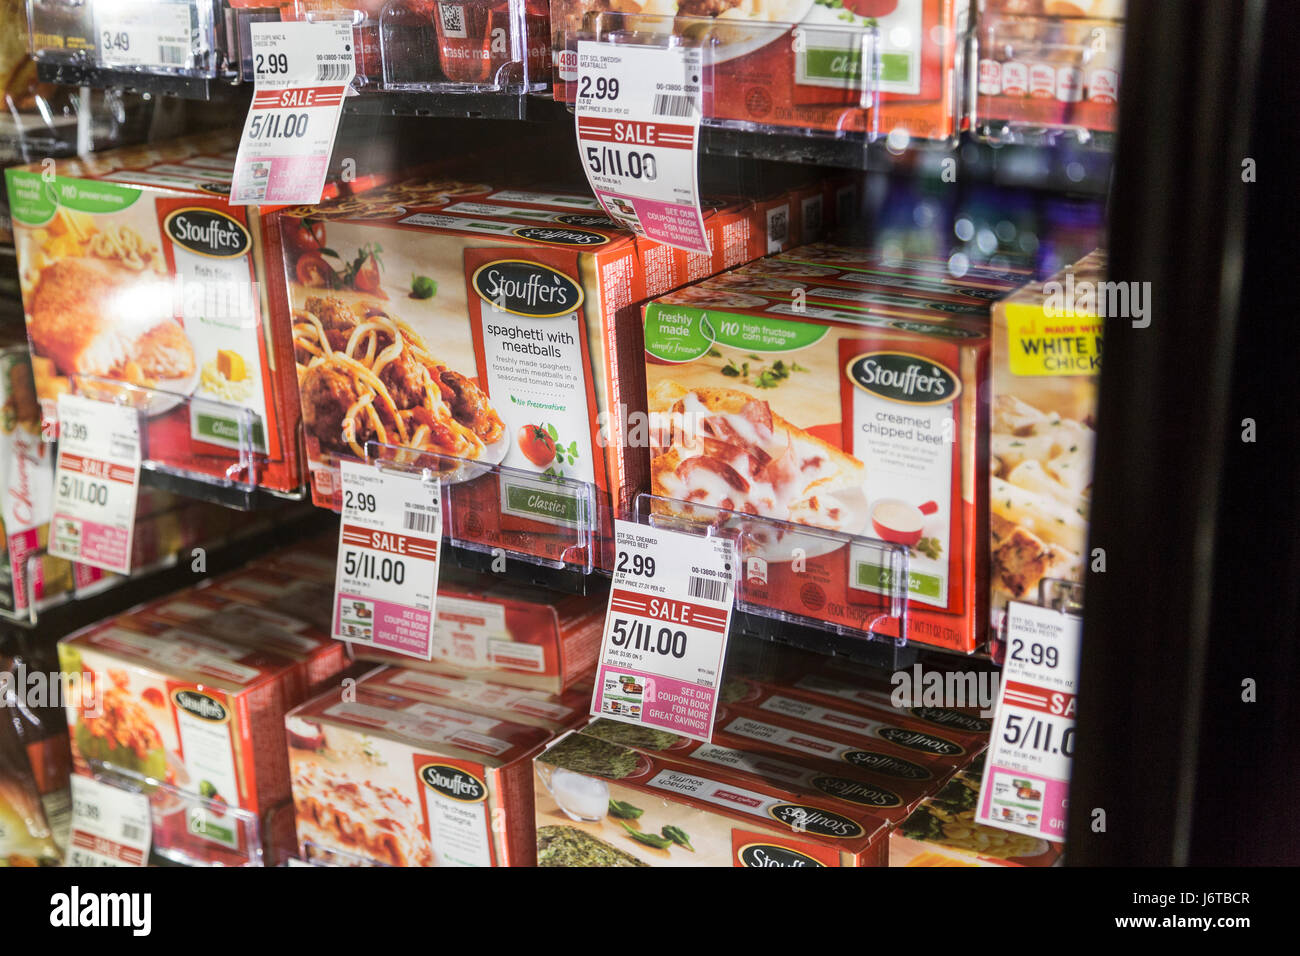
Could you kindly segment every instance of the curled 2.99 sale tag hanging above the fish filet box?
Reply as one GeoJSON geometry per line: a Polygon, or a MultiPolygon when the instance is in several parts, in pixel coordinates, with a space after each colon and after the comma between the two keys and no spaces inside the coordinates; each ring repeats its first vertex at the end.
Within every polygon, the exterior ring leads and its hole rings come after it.
{"type": "Polygon", "coordinates": [[[318,203],[356,73],[350,21],[252,23],[254,92],[230,202],[318,203]]]}

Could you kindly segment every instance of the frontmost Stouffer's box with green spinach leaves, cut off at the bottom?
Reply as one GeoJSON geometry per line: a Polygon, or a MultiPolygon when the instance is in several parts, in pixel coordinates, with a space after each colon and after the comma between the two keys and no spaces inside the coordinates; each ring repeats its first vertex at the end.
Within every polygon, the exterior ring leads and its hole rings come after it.
{"type": "Polygon", "coordinates": [[[586,734],[533,761],[538,866],[883,866],[884,818],[586,734]]]}

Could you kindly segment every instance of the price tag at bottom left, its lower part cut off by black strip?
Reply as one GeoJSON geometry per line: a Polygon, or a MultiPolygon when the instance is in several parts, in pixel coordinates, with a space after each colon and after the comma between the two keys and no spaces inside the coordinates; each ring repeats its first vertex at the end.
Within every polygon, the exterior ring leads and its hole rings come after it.
{"type": "Polygon", "coordinates": [[[153,822],[144,793],[73,774],[69,866],[144,866],[153,822]]]}

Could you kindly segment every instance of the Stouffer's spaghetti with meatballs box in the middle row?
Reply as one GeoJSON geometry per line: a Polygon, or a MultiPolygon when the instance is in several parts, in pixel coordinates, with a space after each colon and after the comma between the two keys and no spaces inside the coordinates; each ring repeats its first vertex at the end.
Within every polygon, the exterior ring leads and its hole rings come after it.
{"type": "Polygon", "coordinates": [[[386,195],[303,215],[347,263],[285,260],[313,499],[337,509],[339,459],[370,442],[502,464],[451,479],[452,540],[606,563],[625,505],[611,496],[644,483],[620,429],[602,431],[636,401],[619,375],[634,349],[615,334],[645,298],[633,238],[408,213],[386,195]],[[594,505],[554,479],[594,486],[594,505]]]}

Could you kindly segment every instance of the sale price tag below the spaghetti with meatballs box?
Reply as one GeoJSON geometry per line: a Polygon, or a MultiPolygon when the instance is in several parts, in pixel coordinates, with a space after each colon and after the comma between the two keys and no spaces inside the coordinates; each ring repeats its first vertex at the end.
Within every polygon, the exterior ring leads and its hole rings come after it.
{"type": "Polygon", "coordinates": [[[442,537],[438,481],[361,462],[342,462],[342,472],[334,636],[428,661],[442,537]]]}

